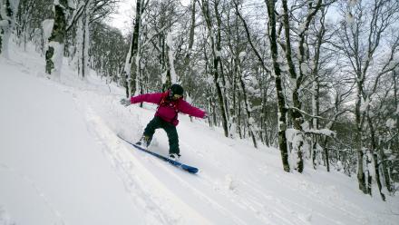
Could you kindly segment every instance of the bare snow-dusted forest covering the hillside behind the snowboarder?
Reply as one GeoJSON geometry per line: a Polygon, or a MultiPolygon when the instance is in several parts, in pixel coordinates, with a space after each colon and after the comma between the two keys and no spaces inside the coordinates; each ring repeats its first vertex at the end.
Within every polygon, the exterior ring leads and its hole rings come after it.
{"type": "Polygon", "coordinates": [[[399,190],[397,0],[0,0],[0,55],[34,44],[126,97],[180,83],[227,138],[274,146],[282,170],[342,171],[385,200],[399,190]],[[187,3],[186,3],[187,2],[187,3]]]}

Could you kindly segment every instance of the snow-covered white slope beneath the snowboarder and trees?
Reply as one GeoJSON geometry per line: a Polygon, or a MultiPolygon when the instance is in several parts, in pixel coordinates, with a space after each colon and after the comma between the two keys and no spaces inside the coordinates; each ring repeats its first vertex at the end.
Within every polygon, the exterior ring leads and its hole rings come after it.
{"type": "MultiPolygon", "coordinates": [[[[200,171],[181,171],[116,136],[138,140],[154,106],[125,108],[122,88],[93,72],[83,82],[67,64],[54,82],[39,54],[10,50],[9,60],[0,58],[0,224],[399,221],[398,197],[370,197],[355,176],[323,167],[285,172],[277,149],[254,149],[185,115],[180,161],[200,171]]],[[[168,152],[165,132],[155,133],[150,150],[168,152]]]]}

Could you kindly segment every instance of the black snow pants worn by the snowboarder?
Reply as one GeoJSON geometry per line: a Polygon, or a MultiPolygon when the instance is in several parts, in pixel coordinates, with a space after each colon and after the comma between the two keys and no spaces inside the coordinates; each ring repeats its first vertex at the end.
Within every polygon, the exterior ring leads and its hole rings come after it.
{"type": "Polygon", "coordinates": [[[162,128],[168,135],[169,139],[169,153],[180,153],[179,149],[179,136],[176,130],[176,127],[170,122],[166,122],[161,119],[161,117],[155,116],[151,122],[147,124],[147,127],[144,129],[144,135],[149,138],[149,143],[152,140],[152,136],[155,133],[155,130],[162,128]]]}

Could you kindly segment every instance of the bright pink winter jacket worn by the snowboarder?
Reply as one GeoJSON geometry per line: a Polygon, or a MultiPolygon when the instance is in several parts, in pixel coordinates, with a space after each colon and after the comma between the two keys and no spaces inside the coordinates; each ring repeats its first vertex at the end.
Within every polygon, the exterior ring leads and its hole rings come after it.
{"type": "Polygon", "coordinates": [[[162,98],[168,95],[169,91],[167,91],[166,93],[145,93],[131,97],[131,103],[146,102],[146,103],[156,103],[160,105],[158,107],[157,112],[155,112],[155,116],[159,116],[161,117],[162,120],[170,122],[175,126],[177,126],[179,123],[179,120],[177,119],[178,112],[183,112],[189,114],[190,116],[195,116],[199,118],[205,117],[206,112],[190,105],[190,103],[187,103],[182,98],[180,98],[175,102],[176,107],[173,106],[174,105],[173,103],[169,104],[162,103],[161,105],[162,98]]]}

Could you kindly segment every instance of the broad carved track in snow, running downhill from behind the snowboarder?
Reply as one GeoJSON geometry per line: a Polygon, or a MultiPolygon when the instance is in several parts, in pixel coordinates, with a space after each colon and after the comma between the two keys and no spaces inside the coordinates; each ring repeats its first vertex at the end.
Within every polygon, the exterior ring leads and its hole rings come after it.
{"type": "MultiPolygon", "coordinates": [[[[211,224],[207,219],[203,218],[192,210],[189,205],[185,204],[170,191],[166,186],[158,181],[136,157],[131,156],[131,148],[127,148],[125,143],[119,139],[115,132],[112,132],[100,116],[95,115],[90,107],[86,107],[86,118],[91,126],[95,128],[95,132],[100,137],[102,144],[105,144],[110,151],[110,156],[117,162],[117,167],[122,167],[122,180],[125,182],[128,191],[132,195],[132,199],[140,199],[144,202],[144,207],[151,211],[154,217],[160,219],[161,224],[187,224],[187,222],[195,221],[196,224],[211,224]],[[128,154],[127,154],[128,153],[128,154]],[[130,159],[130,161],[126,161],[130,159]],[[124,166],[128,165],[128,166],[124,166]],[[138,175],[140,174],[140,175],[138,175]],[[136,187],[139,184],[141,187],[136,187]],[[151,190],[144,192],[143,190],[151,190]],[[143,199],[143,196],[151,194],[151,201],[143,199]],[[158,207],[160,208],[158,208],[158,207]],[[168,207],[167,207],[168,206],[168,207]],[[173,206],[177,209],[170,209],[173,206]],[[165,213],[165,211],[167,213],[165,213]],[[176,211],[180,211],[177,213],[176,211]],[[180,215],[179,215],[180,214],[180,215]],[[183,218],[185,217],[185,218],[183,218]]],[[[131,146],[128,146],[131,147],[131,146]]],[[[163,163],[163,161],[160,161],[163,163]]]]}

